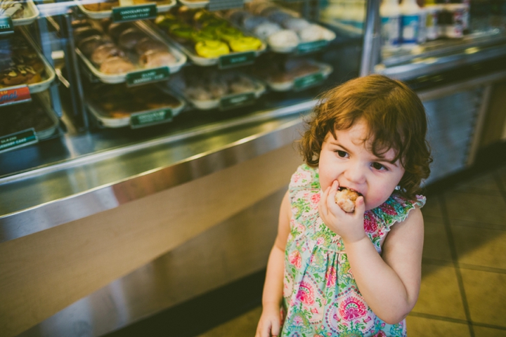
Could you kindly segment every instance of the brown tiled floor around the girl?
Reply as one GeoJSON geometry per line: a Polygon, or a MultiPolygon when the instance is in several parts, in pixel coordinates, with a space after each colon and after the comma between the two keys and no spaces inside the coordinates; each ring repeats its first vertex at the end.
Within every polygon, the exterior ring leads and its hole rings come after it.
{"type": "MultiPolygon", "coordinates": [[[[506,336],[506,166],[428,196],[408,336],[506,336]]],[[[261,308],[199,337],[254,336],[261,308]]]]}

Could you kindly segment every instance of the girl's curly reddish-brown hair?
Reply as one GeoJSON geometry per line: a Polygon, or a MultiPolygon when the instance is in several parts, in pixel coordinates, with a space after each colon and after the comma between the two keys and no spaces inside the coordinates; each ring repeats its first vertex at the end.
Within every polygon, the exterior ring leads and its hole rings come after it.
{"type": "Polygon", "coordinates": [[[347,130],[363,119],[369,127],[370,151],[377,157],[391,148],[406,170],[399,183],[401,193],[414,199],[423,179],[429,177],[432,162],[427,133],[427,116],[417,94],[401,81],[383,75],[369,75],[346,81],[320,96],[299,140],[306,164],[317,167],[328,133],[347,130]]]}

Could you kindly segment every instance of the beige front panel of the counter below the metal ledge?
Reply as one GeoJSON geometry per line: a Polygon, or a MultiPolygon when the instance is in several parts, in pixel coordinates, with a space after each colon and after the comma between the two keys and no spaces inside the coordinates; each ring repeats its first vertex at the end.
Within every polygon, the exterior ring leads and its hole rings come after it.
{"type": "Polygon", "coordinates": [[[0,244],[2,336],[29,329],[278,192],[299,163],[292,145],[285,146],[116,209],[0,244]]]}

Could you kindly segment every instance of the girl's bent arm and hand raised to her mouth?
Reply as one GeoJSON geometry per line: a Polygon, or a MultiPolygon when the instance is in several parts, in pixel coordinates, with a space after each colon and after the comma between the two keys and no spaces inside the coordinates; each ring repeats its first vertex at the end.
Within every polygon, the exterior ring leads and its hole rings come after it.
{"type": "Polygon", "coordinates": [[[391,227],[380,256],[363,229],[363,197],[357,199],[354,213],[346,213],[335,204],[334,196],[332,185],[322,194],[320,216],[342,237],[358,289],[377,317],[389,324],[401,322],[420,291],[422,212],[415,208],[406,220],[391,227]]]}

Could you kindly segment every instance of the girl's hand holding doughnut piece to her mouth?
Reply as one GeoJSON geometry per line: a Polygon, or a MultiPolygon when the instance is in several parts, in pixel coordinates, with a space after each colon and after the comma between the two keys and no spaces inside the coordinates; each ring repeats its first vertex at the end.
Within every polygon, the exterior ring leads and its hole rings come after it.
{"type": "Polygon", "coordinates": [[[365,212],[365,204],[362,196],[355,201],[355,211],[346,213],[335,203],[335,194],[339,183],[334,180],[331,186],[322,192],[318,211],[323,223],[327,225],[344,242],[358,242],[365,237],[363,228],[363,216],[365,212]]]}

